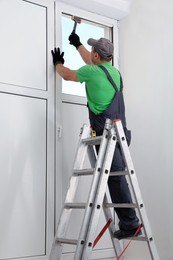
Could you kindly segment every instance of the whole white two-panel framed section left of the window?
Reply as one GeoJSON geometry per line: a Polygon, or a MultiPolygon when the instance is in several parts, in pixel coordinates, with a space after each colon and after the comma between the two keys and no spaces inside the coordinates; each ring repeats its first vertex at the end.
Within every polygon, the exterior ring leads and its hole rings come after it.
{"type": "Polygon", "coordinates": [[[0,1],[0,259],[48,259],[54,235],[52,1],[0,1]]]}

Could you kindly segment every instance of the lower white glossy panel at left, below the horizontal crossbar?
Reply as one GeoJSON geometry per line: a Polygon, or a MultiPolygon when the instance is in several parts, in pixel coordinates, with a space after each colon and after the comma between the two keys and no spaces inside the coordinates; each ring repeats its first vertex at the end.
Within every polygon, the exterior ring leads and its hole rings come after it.
{"type": "Polygon", "coordinates": [[[45,100],[0,93],[0,259],[45,253],[45,113],[45,100]]]}

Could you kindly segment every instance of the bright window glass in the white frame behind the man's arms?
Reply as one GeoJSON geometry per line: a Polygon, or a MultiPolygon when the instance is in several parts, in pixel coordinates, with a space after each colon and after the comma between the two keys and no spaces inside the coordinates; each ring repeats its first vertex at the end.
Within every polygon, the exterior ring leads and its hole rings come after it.
{"type": "MultiPolygon", "coordinates": [[[[64,51],[65,66],[70,69],[78,69],[85,63],[73,45],[69,44],[68,37],[71,34],[74,21],[70,15],[62,15],[62,51],[64,51]]],[[[92,23],[86,20],[77,24],[76,33],[80,37],[82,44],[90,51],[91,46],[87,44],[89,38],[99,39],[106,37],[109,28],[100,24],[92,23]]],[[[85,97],[85,84],[79,82],[62,81],[62,93],[85,97]]]]}

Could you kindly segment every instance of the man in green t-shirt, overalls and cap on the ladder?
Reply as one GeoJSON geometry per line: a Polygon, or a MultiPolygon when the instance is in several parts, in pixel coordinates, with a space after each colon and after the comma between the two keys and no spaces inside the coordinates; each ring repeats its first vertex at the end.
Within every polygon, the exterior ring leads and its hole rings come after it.
{"type": "MultiPolygon", "coordinates": [[[[78,70],[65,67],[64,52],[61,52],[60,48],[55,48],[51,52],[57,73],[64,80],[85,82],[90,124],[97,135],[102,135],[106,118],[119,118],[122,121],[127,142],[130,144],[131,136],[126,127],[122,78],[120,72],[111,64],[114,52],[113,44],[106,38],[98,40],[90,38],[87,41],[91,46],[91,52],[89,52],[76,33],[71,33],[68,39],[69,43],[77,49],[86,65],[78,70]],[[106,72],[100,66],[103,66],[106,72]],[[108,80],[107,74],[111,75],[115,87],[108,80]]],[[[124,170],[125,163],[120,146],[117,145],[111,171],[124,170]]],[[[132,203],[125,176],[110,176],[108,187],[113,203],[132,203]]],[[[115,231],[114,237],[117,239],[132,237],[139,227],[139,219],[136,216],[135,209],[115,208],[115,211],[119,218],[119,230],[115,231]]],[[[141,231],[136,235],[139,234],[141,234],[141,231]]]]}

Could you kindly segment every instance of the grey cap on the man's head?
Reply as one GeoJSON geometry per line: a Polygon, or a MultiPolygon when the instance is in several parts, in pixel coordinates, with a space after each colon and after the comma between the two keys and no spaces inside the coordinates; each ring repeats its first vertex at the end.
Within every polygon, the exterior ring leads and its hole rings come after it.
{"type": "Polygon", "coordinates": [[[99,40],[88,39],[87,43],[93,46],[98,54],[105,59],[111,59],[114,52],[113,44],[106,38],[100,38],[99,40]]]}

